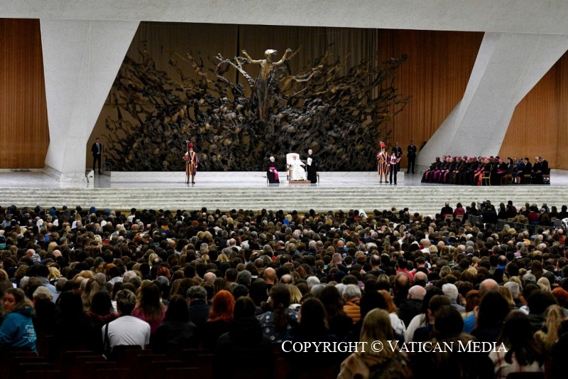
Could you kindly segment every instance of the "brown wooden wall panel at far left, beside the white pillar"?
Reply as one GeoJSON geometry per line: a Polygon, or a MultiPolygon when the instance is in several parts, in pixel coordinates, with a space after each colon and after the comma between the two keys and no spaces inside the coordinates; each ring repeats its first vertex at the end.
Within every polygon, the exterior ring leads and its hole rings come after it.
{"type": "Polygon", "coordinates": [[[43,168],[48,145],[40,22],[0,18],[0,169],[43,168]]]}

